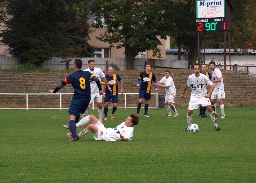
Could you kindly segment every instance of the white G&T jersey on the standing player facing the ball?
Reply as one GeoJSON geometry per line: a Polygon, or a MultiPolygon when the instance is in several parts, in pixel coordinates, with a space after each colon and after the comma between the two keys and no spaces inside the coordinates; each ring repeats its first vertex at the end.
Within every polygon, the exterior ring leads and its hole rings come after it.
{"type": "Polygon", "coordinates": [[[203,97],[205,93],[205,87],[206,85],[212,86],[211,80],[205,76],[204,74],[201,74],[196,77],[195,74],[191,74],[188,76],[188,81],[187,85],[188,87],[190,86],[192,91],[191,91],[191,96],[195,97],[203,97]]]}

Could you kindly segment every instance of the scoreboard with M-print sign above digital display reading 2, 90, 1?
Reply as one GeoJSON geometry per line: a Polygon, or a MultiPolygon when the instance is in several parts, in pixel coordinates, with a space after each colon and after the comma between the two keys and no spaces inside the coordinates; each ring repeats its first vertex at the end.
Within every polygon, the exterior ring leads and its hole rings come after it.
{"type": "Polygon", "coordinates": [[[225,29],[225,0],[196,0],[196,31],[225,29]]]}

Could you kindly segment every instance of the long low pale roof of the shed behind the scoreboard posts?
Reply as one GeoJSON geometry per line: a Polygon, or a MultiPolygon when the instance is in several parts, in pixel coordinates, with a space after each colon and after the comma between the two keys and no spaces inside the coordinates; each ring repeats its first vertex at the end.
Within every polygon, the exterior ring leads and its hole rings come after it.
{"type": "MultiPolygon", "coordinates": [[[[247,50],[250,54],[256,54],[256,51],[249,49],[247,50]]],[[[177,53],[178,49],[177,48],[172,48],[172,49],[165,49],[166,53],[177,53]]],[[[186,50],[181,49],[181,52],[186,52],[186,50]]],[[[200,49],[201,53],[204,53],[204,49],[200,49]]],[[[205,48],[205,53],[224,53],[224,49],[211,49],[211,48],[205,48]]],[[[226,49],[226,53],[228,54],[228,49],[226,49]]],[[[240,53],[243,54],[244,52],[242,52],[242,50],[240,48],[236,49],[236,52],[234,51],[234,49],[230,49],[230,53],[240,53]]]]}

